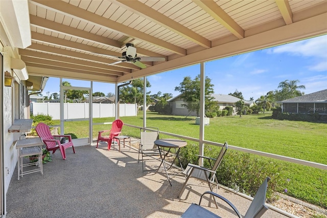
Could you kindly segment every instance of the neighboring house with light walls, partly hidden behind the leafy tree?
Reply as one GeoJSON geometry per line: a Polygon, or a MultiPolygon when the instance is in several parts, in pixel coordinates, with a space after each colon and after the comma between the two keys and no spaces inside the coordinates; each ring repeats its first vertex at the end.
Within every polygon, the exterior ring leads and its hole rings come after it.
{"type": "MultiPolygon", "coordinates": [[[[181,94],[167,100],[172,106],[173,115],[196,116],[196,112],[192,112],[190,114],[188,109],[183,106],[183,104],[186,104],[186,102],[184,102],[180,96],[181,94]]],[[[217,106],[219,106],[220,110],[223,110],[226,106],[232,106],[234,107],[233,115],[236,115],[235,103],[241,99],[234,97],[232,95],[223,95],[223,94],[213,94],[212,96],[215,98],[215,101],[217,101],[217,106]]],[[[254,104],[253,101],[244,101],[244,103],[246,106],[249,107],[254,104]]]]}

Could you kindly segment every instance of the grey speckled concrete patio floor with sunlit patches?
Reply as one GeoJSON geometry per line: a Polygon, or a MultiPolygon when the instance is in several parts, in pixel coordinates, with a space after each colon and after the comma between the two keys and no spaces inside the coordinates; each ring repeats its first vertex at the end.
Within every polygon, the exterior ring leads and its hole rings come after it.
{"type": "MultiPolygon", "coordinates": [[[[137,163],[138,152],[129,147],[107,150],[106,143],[66,150],[66,160],[60,152],[39,172],[17,180],[17,166],[7,192],[7,218],[18,217],[180,217],[191,205],[199,203],[207,184],[190,179],[180,199],[177,194],[185,178],[172,168],[170,186],[164,168],[159,172],[142,173],[137,163]]],[[[159,161],[146,162],[158,167],[159,161]]],[[[250,201],[240,195],[218,189],[218,193],[236,205],[242,215],[250,201]]],[[[237,217],[226,204],[205,197],[201,205],[222,217],[237,217]]],[[[269,209],[262,217],[287,217],[269,209]]]]}

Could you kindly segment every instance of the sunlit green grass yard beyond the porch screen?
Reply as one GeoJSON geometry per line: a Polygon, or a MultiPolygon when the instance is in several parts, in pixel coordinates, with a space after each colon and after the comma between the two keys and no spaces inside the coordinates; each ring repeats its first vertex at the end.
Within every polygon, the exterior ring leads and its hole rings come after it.
{"type": "MultiPolygon", "coordinates": [[[[272,154],[327,164],[327,124],[301,121],[273,120],[271,114],[244,115],[211,118],[204,127],[205,140],[228,142],[229,145],[245,147],[272,154]]],[[[122,117],[124,123],[142,126],[143,114],[122,117]]],[[[95,118],[94,123],[112,122],[114,118],[95,118]]],[[[59,124],[59,121],[55,121],[59,124]]],[[[88,122],[67,122],[65,134],[77,138],[87,137],[88,122]]],[[[147,113],[147,126],[178,135],[199,138],[199,125],[195,117],[167,116],[147,113]]],[[[95,125],[93,138],[98,131],[110,129],[110,125],[95,125]]],[[[124,126],[123,134],[139,138],[139,129],[124,126]]],[[[160,135],[160,138],[171,138],[160,135]]],[[[195,142],[190,142],[195,143],[195,142]]],[[[228,154],[228,153],[227,153],[228,154]]],[[[264,158],[264,157],[260,157],[264,158]]],[[[282,173],[287,182],[287,195],[327,208],[327,170],[271,159],[285,169],[282,173]]],[[[269,176],[269,175],[267,175],[269,176]]]]}

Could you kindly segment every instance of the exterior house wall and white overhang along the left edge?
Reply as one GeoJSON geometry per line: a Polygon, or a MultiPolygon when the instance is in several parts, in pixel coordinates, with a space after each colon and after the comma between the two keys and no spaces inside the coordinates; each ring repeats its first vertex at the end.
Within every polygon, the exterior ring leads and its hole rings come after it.
{"type": "Polygon", "coordinates": [[[6,194],[14,169],[17,164],[16,142],[20,134],[9,133],[8,129],[15,119],[25,119],[28,115],[27,90],[25,80],[28,74],[25,71],[12,70],[12,61],[20,59],[18,48],[31,45],[31,30],[29,24],[28,1],[0,1],[0,58],[1,70],[1,151],[0,175],[1,198],[0,216],[6,214],[6,194]],[[13,86],[4,86],[4,72],[8,71],[14,78],[13,86]]]}

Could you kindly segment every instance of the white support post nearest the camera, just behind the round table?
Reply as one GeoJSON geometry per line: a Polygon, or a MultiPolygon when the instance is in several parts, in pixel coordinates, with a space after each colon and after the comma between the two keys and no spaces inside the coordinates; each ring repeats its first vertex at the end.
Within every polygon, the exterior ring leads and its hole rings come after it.
{"type": "MultiPolygon", "coordinates": [[[[200,135],[199,135],[199,155],[204,153],[204,95],[205,95],[205,77],[204,77],[204,62],[200,63],[200,135]]],[[[203,158],[199,159],[199,165],[203,166],[203,158]]]]}

